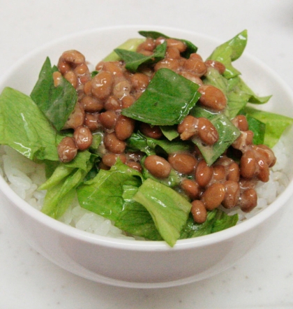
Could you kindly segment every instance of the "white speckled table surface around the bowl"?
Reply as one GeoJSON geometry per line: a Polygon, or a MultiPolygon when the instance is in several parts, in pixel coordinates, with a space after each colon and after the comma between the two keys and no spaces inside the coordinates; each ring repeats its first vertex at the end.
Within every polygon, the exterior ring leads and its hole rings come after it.
{"type": "MultiPolygon", "coordinates": [[[[246,52],[293,87],[290,0],[0,0],[0,8],[0,76],[34,48],[75,31],[151,24],[223,42],[248,29],[246,52]]],[[[264,243],[220,275],[181,287],[126,289],[63,271],[31,249],[1,213],[0,309],[293,308],[292,217],[291,201],[264,243]]]]}

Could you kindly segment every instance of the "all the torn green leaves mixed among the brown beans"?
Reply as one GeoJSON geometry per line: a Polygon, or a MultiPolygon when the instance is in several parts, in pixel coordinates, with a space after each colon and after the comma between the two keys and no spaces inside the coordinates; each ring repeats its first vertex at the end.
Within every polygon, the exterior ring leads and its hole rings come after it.
{"type": "MultiPolygon", "coordinates": [[[[170,38],[156,31],[140,31],[140,34],[154,39],[170,38]]],[[[135,52],[144,40],[126,41],[104,61],[123,59],[126,69],[136,72],[142,66],[152,66],[165,57],[166,42],[158,45],[151,56],[135,52]]],[[[181,56],[188,58],[197,52],[193,43],[181,41],[187,46],[181,56]]],[[[248,106],[248,103],[266,103],[271,96],[257,96],[232,66],[232,62],[243,53],[246,43],[247,31],[244,30],[218,46],[208,59],[223,62],[225,72],[221,75],[216,69],[209,68],[202,77],[206,85],[214,85],[225,94],[227,108],[224,113],[198,106],[199,85],[170,69],[158,70],[140,98],[122,110],[122,115],[151,126],[158,125],[163,132],[162,138],[154,139],[135,130],[126,140],[128,151],[142,153],[142,173],[119,159],[109,171],[98,169],[97,162],[103,157],[103,147],[100,147],[103,131],[93,134],[89,150],[79,151],[69,163],[59,162],[58,143],[63,136],[73,135],[72,131],[62,129],[75,108],[77,92],[64,78],[59,86],[54,87],[52,74],[57,68],[51,66],[49,58],[45,59],[31,97],[9,87],[3,89],[0,95],[0,143],[9,145],[29,159],[45,163],[48,178],[39,189],[47,190],[42,211],[51,217],[63,215],[77,195],[82,208],[112,220],[126,233],[149,240],[165,240],[171,247],[178,239],[232,227],[238,221],[238,215],[227,215],[220,209],[209,211],[203,224],[195,223],[190,214],[190,201],[181,192],[182,175],[172,168],[169,178],[157,179],[144,168],[144,159],[149,155],[166,158],[173,153],[190,152],[195,144],[207,164],[211,165],[239,136],[239,129],[231,122],[239,114],[246,115],[249,129],[254,133],[254,143],[265,143],[269,147],[293,124],[290,117],[248,106]],[[208,146],[198,138],[181,141],[176,128],[187,115],[208,118],[218,131],[218,142],[208,146]]]]}

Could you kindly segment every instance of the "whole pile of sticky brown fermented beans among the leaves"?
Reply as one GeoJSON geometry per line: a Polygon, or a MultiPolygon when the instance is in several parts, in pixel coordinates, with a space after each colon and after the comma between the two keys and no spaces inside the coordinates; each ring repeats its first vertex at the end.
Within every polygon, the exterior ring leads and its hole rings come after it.
{"type": "MultiPolygon", "coordinates": [[[[96,65],[96,76],[91,76],[84,56],[76,51],[63,52],[59,59],[54,83],[59,85],[63,76],[77,90],[78,102],[63,129],[73,129],[73,137],[63,138],[58,146],[59,159],[68,162],[74,159],[78,150],[91,146],[93,134],[103,132],[100,145],[102,160],[99,168],[109,169],[117,158],[137,171],[142,171],[143,153],[129,152],[127,139],[139,130],[145,136],[160,139],[162,131],[158,126],[135,121],[121,115],[123,108],[131,106],[144,92],[156,71],[171,69],[181,76],[200,85],[199,102],[205,108],[221,113],[227,106],[225,94],[212,85],[204,85],[204,76],[210,68],[225,71],[225,66],[216,61],[203,61],[197,53],[188,59],[181,57],[186,50],[183,41],[172,38],[147,38],[137,52],[152,55],[157,45],[167,41],[165,58],[152,66],[143,67],[140,73],[130,73],[123,62],[100,62],[96,65]]],[[[172,169],[181,175],[179,192],[186,194],[192,203],[191,213],[195,222],[206,220],[207,210],[219,206],[239,206],[250,212],[257,205],[255,185],[259,180],[269,180],[269,168],[276,162],[271,149],[265,145],[253,145],[253,132],[243,115],[232,122],[241,131],[232,148],[240,154],[239,160],[223,154],[208,166],[200,151],[194,146],[191,152],[172,153],[167,157],[149,155],[144,159],[144,168],[154,177],[168,178],[172,169]]],[[[218,131],[206,118],[188,115],[177,127],[182,141],[200,138],[202,143],[213,145],[218,141],[218,131]]]]}

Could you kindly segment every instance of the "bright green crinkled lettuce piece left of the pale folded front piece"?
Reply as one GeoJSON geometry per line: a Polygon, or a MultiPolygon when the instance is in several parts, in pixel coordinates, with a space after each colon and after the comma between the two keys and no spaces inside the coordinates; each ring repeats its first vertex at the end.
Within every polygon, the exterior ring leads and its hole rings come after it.
{"type": "Polygon", "coordinates": [[[123,187],[139,187],[142,174],[119,159],[109,171],[100,170],[95,178],[77,187],[80,206],[110,220],[118,220],[123,210],[123,187]]]}

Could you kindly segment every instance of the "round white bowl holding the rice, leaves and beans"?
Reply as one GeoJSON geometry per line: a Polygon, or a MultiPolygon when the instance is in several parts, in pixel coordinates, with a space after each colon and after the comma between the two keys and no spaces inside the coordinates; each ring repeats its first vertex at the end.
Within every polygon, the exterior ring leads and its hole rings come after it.
{"type": "MultiPolygon", "coordinates": [[[[96,64],[126,39],[139,36],[137,31],[147,29],[190,40],[199,47],[203,57],[209,56],[218,44],[223,43],[190,31],[165,27],[93,29],[31,52],[0,80],[0,92],[9,86],[29,94],[47,56],[52,64],[57,64],[64,50],[76,49],[89,62],[96,64]]],[[[293,116],[292,91],[276,73],[246,53],[236,62],[236,67],[248,85],[253,85],[260,95],[273,94],[266,110],[293,116]]],[[[17,196],[1,177],[0,188],[6,199],[3,208],[15,229],[19,229],[40,254],[67,271],[121,287],[172,287],[209,278],[230,268],[267,236],[278,223],[280,210],[293,192],[290,162],[287,168],[290,170],[290,184],[269,207],[235,227],[179,240],[173,248],[160,241],[121,240],[80,231],[40,213],[17,196]]]]}

